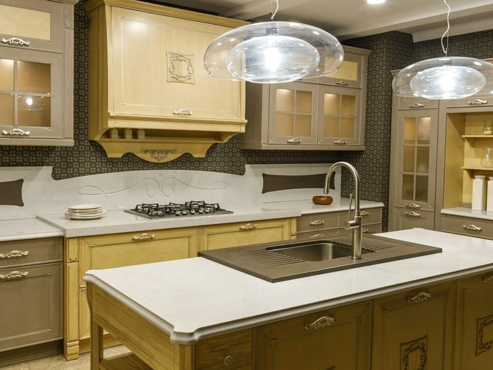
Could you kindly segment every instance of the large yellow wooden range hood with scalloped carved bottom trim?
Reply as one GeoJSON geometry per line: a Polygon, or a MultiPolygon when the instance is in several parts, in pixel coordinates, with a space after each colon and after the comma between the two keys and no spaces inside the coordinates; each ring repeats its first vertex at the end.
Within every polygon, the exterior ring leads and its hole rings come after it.
{"type": "Polygon", "coordinates": [[[244,132],[244,82],[207,75],[203,55],[244,22],[130,0],[90,0],[89,138],[109,157],[203,157],[244,132]]]}

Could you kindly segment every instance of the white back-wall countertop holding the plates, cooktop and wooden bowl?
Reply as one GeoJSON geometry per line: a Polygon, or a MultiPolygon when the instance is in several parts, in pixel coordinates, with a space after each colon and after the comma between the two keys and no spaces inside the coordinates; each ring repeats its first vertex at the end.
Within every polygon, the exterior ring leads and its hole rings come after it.
{"type": "MultiPolygon", "coordinates": [[[[260,221],[281,219],[283,217],[299,217],[301,214],[336,212],[347,210],[349,199],[335,199],[329,206],[312,203],[312,199],[297,201],[273,201],[268,203],[230,203],[221,207],[233,211],[232,214],[216,214],[198,217],[172,217],[167,219],[146,219],[123,210],[108,211],[101,219],[75,221],[64,217],[64,214],[39,214],[38,218],[58,227],[67,238],[120,232],[139,232],[146,230],[171,229],[174,227],[194,227],[217,225],[220,223],[260,221]]],[[[361,208],[383,207],[382,203],[362,201],[361,208]]],[[[1,224],[2,221],[0,221],[1,224]]]]}

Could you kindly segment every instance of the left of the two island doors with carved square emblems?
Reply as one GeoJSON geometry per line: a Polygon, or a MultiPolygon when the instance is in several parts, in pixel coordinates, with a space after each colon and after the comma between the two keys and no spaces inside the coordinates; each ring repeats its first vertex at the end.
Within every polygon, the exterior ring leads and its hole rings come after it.
{"type": "Polygon", "coordinates": [[[452,369],[455,284],[375,299],[372,369],[452,369]]]}

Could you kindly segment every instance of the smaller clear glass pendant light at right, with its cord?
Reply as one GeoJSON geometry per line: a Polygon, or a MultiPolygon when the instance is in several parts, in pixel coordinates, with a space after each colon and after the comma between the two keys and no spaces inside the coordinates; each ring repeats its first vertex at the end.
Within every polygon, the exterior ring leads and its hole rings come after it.
{"type": "Polygon", "coordinates": [[[448,56],[448,31],[451,8],[448,8],[447,28],[442,35],[445,56],[422,60],[405,67],[394,77],[392,88],[401,97],[425,97],[427,99],[460,99],[479,93],[486,77],[493,73],[493,64],[475,58],[448,56]],[[446,47],[444,37],[446,36],[446,47]]]}

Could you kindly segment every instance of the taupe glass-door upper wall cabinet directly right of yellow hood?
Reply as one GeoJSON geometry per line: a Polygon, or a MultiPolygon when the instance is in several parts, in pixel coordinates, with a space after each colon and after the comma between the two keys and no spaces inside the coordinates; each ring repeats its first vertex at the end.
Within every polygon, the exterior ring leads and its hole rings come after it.
{"type": "Polygon", "coordinates": [[[364,150],[370,51],[344,47],[333,75],[287,84],[247,83],[243,149],[364,150]]]}

